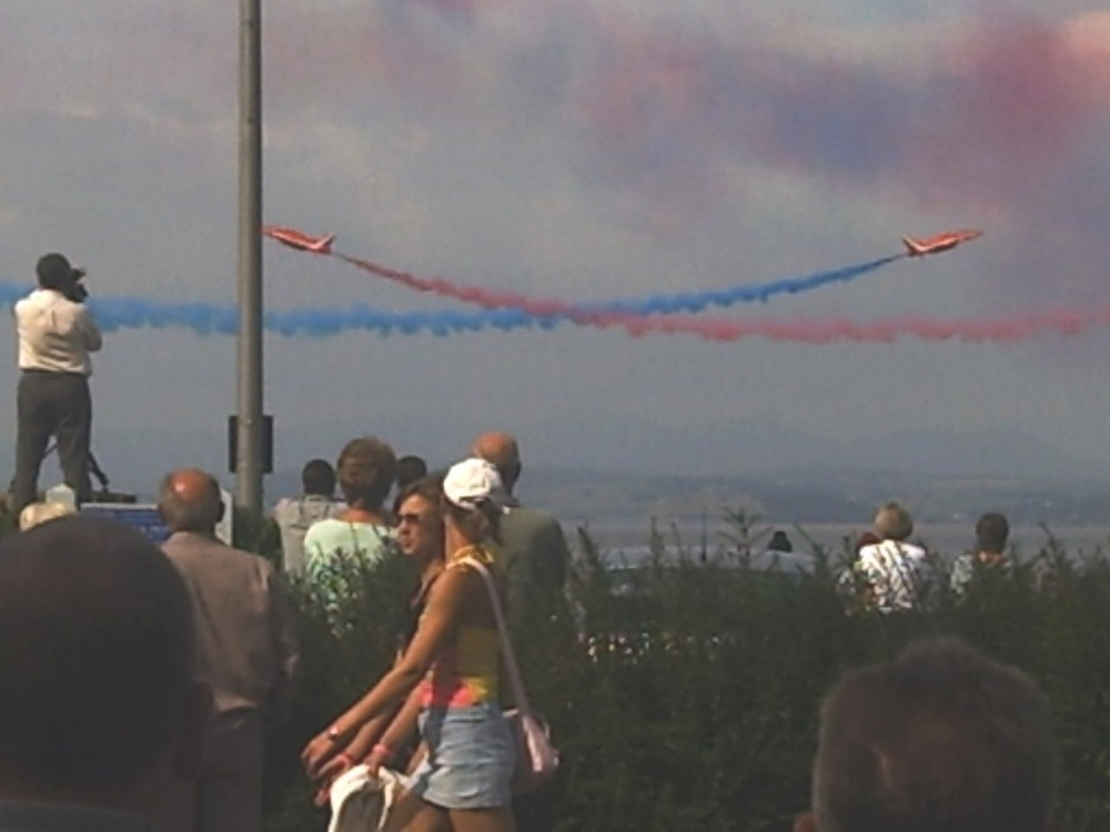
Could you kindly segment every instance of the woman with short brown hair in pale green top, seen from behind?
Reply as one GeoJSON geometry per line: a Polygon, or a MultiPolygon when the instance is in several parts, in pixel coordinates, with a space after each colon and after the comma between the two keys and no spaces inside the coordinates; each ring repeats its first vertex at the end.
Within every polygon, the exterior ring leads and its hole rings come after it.
{"type": "Polygon", "coordinates": [[[352,439],[335,464],[347,508],[320,520],[304,536],[305,574],[310,581],[331,580],[336,572],[373,567],[396,550],[382,503],[396,476],[393,449],[372,436],[352,439]]]}

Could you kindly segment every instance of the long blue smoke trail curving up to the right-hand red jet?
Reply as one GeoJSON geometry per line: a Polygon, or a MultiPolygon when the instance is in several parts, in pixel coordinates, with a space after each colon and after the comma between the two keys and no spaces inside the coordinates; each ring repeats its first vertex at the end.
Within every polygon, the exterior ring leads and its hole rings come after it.
{"type": "MultiPolygon", "coordinates": [[[[775,281],[751,286],[735,286],[700,293],[656,295],[643,300],[616,300],[597,304],[576,304],[566,312],[532,315],[522,310],[495,308],[435,312],[386,312],[366,304],[346,308],[303,308],[271,311],[263,316],[268,332],[285,337],[330,337],[344,332],[370,332],[377,335],[417,335],[437,337],[496,329],[552,329],[574,314],[609,314],[616,316],[666,315],[678,312],[700,312],[707,306],[729,306],[735,303],[766,302],[779,294],[795,294],[830,283],[847,282],[872,272],[901,255],[884,257],[806,277],[775,281]]],[[[26,284],[0,283],[0,304],[10,305],[27,294],[26,284]]],[[[118,329],[171,328],[191,329],[199,335],[234,335],[239,312],[232,304],[209,302],[163,302],[131,296],[94,295],[88,301],[104,332],[118,329]]]]}

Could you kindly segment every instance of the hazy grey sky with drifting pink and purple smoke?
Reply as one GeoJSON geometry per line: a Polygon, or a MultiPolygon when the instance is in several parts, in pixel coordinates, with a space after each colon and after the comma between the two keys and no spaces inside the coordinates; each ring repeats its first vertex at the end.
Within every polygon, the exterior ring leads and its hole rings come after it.
{"type": "MultiPolygon", "coordinates": [[[[61,251],[98,298],[234,302],[236,6],[6,1],[0,280],[30,285],[38,256],[61,251]]],[[[491,428],[516,434],[532,466],[743,474],[850,448],[898,468],[914,458],[890,451],[898,437],[945,436],[1010,437],[1016,468],[1033,464],[1027,446],[1110,465],[1106,323],[1002,344],[922,341],[914,324],[1049,308],[1108,319],[1100,6],[263,3],[264,217],[335,233],[345,254],[599,301],[804,276],[896,254],[905,234],[985,232],[704,313],[905,328],[880,343],[571,324],[270,335],[278,467],[362,434],[446,463],[491,428]]],[[[272,311],[464,308],[272,242],[264,281],[272,311]]],[[[14,335],[0,344],[0,390],[13,393],[14,335]]],[[[93,396],[94,450],[134,480],[120,486],[183,464],[222,473],[234,338],[112,332],[93,396]]],[[[0,467],[14,445],[14,396],[3,400],[0,467]]]]}

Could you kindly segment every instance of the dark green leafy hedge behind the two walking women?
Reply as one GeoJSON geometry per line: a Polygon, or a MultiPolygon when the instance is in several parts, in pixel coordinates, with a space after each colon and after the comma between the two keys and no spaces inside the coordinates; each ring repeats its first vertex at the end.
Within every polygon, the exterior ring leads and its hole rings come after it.
{"type": "MultiPolygon", "coordinates": [[[[845,615],[814,551],[808,576],[745,568],[748,531],[707,562],[662,558],[619,587],[584,538],[573,603],[525,621],[516,647],[564,769],[517,805],[528,832],[789,830],[806,808],[817,708],[847,668],[908,641],[958,635],[1013,662],[1052,699],[1064,753],[1060,819],[1110,829],[1110,566],[1051,546],[1009,576],[983,576],[966,601],[941,592],[927,613],[845,615]]],[[[268,829],[323,829],[296,753],[387,667],[414,576],[402,560],[355,576],[330,621],[295,588],[305,678],[271,748],[268,829]]],[[[349,578],[350,580],[350,578],[349,578]]]]}

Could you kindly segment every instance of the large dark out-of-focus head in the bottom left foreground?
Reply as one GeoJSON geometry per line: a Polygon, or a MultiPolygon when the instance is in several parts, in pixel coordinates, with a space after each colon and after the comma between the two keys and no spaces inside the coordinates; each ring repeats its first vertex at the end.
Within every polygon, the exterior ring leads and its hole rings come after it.
{"type": "Polygon", "coordinates": [[[195,732],[188,591],[142,535],[67,517],[0,540],[0,792],[125,794],[195,732]]]}

